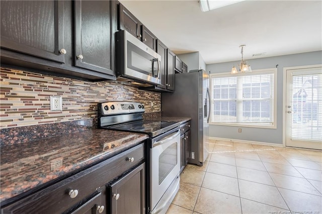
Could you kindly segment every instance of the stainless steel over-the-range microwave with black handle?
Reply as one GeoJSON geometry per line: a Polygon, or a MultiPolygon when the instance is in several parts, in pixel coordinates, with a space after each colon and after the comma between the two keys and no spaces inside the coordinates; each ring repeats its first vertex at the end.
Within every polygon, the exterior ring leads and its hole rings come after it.
{"type": "Polygon", "coordinates": [[[127,31],[115,35],[117,77],[161,84],[161,56],[127,31]]]}

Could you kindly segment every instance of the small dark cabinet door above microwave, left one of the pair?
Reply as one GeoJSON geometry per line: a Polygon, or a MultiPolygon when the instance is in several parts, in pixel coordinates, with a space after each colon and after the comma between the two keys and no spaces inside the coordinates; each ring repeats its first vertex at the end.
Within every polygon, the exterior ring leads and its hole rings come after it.
{"type": "Polygon", "coordinates": [[[141,23],[122,4],[119,4],[118,29],[128,31],[130,34],[141,40],[141,23]]]}

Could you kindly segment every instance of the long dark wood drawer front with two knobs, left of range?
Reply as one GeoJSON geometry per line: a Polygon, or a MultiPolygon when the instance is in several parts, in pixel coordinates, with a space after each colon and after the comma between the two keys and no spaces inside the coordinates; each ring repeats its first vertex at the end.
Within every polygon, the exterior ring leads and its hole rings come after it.
{"type": "Polygon", "coordinates": [[[144,143],[33,193],[2,208],[1,211],[2,213],[64,212],[74,205],[79,206],[89,196],[99,192],[106,183],[133,168],[143,160],[144,143]],[[72,196],[74,197],[72,198],[72,196]]]}

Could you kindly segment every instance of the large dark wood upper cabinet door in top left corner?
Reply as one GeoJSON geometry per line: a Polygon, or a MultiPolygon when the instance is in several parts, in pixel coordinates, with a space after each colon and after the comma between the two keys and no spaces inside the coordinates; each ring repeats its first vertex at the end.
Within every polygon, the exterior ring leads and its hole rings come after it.
{"type": "Polygon", "coordinates": [[[65,62],[64,1],[0,1],[1,47],[65,62]]]}

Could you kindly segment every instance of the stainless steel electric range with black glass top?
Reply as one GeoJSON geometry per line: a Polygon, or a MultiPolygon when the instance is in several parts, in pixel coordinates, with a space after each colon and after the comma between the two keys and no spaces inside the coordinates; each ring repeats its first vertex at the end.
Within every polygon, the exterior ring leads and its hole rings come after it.
{"type": "Polygon", "coordinates": [[[180,123],[143,120],[144,105],[131,101],[98,104],[99,128],[143,133],[148,140],[148,209],[166,212],[180,184],[180,123]]]}

